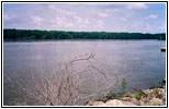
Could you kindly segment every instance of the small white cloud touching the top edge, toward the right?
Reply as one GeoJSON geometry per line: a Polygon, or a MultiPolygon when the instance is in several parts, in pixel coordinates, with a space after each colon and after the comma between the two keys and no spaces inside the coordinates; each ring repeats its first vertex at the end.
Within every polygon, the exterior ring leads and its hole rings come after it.
{"type": "Polygon", "coordinates": [[[147,9],[147,5],[145,3],[128,3],[126,9],[147,9]]]}

